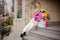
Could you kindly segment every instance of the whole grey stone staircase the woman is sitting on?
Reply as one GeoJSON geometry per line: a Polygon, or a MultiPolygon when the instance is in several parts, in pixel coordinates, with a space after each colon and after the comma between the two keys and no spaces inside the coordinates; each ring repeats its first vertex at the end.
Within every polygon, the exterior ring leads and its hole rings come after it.
{"type": "Polygon", "coordinates": [[[60,40],[60,26],[31,30],[25,38],[27,40],[60,40]]]}

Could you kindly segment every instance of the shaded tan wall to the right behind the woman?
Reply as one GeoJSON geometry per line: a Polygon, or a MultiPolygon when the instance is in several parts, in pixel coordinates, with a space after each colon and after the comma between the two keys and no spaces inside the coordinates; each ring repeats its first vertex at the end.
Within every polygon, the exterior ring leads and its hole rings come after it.
{"type": "Polygon", "coordinates": [[[42,9],[48,10],[50,21],[60,21],[60,3],[59,0],[39,0],[42,9]]]}

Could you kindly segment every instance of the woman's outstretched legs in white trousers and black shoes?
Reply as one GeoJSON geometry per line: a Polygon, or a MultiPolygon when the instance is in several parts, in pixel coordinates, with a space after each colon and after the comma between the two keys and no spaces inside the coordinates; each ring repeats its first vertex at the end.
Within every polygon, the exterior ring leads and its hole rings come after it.
{"type": "Polygon", "coordinates": [[[20,37],[23,38],[23,36],[26,35],[26,32],[29,32],[32,27],[34,27],[36,25],[37,22],[34,21],[34,18],[32,18],[32,20],[25,26],[25,28],[22,31],[22,34],[20,35],[20,37]]]}

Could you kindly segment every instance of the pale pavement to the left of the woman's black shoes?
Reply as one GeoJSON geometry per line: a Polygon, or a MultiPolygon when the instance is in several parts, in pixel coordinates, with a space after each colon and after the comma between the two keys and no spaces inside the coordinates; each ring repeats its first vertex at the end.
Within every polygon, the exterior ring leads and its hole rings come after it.
{"type": "Polygon", "coordinates": [[[21,40],[20,38],[21,30],[13,31],[9,36],[4,37],[3,40],[21,40]]]}

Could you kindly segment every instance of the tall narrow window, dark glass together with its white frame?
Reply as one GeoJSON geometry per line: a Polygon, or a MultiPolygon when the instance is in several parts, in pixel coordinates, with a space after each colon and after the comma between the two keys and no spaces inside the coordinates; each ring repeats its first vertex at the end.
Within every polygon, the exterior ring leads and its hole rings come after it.
{"type": "Polygon", "coordinates": [[[25,0],[14,0],[14,19],[25,17],[25,0]]]}

